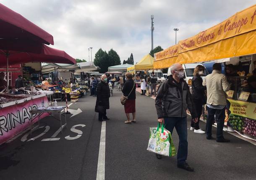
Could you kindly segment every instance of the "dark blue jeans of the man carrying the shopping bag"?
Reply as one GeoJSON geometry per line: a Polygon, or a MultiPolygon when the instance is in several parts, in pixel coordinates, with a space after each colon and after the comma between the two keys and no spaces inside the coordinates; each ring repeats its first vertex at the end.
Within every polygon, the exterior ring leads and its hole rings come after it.
{"type": "Polygon", "coordinates": [[[165,117],[165,128],[173,132],[175,127],[179,136],[179,149],[177,154],[178,165],[183,165],[188,157],[188,132],[187,132],[187,117],[165,117]]]}

